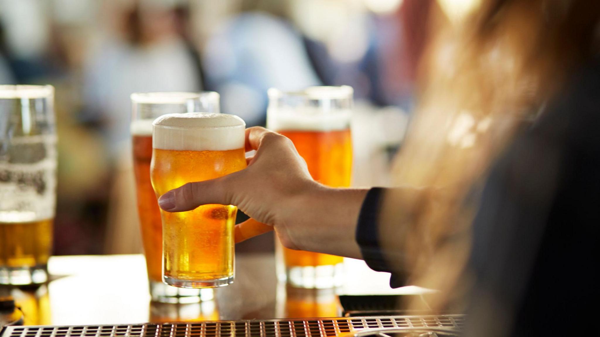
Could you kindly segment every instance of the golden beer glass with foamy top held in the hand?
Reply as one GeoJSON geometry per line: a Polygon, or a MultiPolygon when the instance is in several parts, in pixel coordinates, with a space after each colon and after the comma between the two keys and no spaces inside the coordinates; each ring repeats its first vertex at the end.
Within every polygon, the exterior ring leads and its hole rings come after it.
{"type": "MultiPolygon", "coordinates": [[[[161,116],[153,125],[150,175],[157,197],[246,167],[245,123],[238,116],[182,113],[161,116]]],[[[163,281],[184,288],[232,283],[237,211],[222,204],[178,213],[161,210],[163,281]]]]}

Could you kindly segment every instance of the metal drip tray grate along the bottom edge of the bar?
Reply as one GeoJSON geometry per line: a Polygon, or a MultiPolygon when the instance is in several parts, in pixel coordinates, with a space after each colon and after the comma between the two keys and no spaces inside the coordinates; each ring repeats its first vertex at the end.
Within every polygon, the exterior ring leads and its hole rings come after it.
{"type": "Polygon", "coordinates": [[[439,315],[104,326],[9,326],[0,337],[326,337],[353,335],[365,329],[382,332],[385,329],[458,332],[463,321],[462,315],[439,315]]]}

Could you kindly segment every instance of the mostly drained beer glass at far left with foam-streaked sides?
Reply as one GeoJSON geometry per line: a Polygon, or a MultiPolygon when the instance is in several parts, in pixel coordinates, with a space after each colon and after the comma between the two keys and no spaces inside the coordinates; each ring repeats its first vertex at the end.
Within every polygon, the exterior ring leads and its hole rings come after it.
{"type": "Polygon", "coordinates": [[[56,205],[52,86],[0,86],[0,284],[48,279],[56,205]]]}

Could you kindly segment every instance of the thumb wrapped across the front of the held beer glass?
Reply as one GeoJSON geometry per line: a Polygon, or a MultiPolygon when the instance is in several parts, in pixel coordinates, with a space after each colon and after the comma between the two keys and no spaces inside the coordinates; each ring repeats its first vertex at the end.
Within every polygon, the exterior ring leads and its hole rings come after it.
{"type": "Polygon", "coordinates": [[[232,204],[232,175],[199,182],[188,182],[158,198],[158,206],[167,212],[185,212],[203,204],[232,204]]]}

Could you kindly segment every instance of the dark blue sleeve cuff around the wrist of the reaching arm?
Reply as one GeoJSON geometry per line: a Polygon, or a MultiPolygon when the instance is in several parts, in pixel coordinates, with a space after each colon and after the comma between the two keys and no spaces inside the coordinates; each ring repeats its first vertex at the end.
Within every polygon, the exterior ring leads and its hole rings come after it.
{"type": "Polygon", "coordinates": [[[395,271],[398,270],[397,267],[389,265],[379,242],[379,209],[384,193],[385,188],[380,187],[374,187],[368,191],[358,216],[356,242],[361,248],[362,258],[367,265],[377,272],[391,273],[389,284],[392,288],[398,288],[405,285],[406,277],[395,271]]]}

